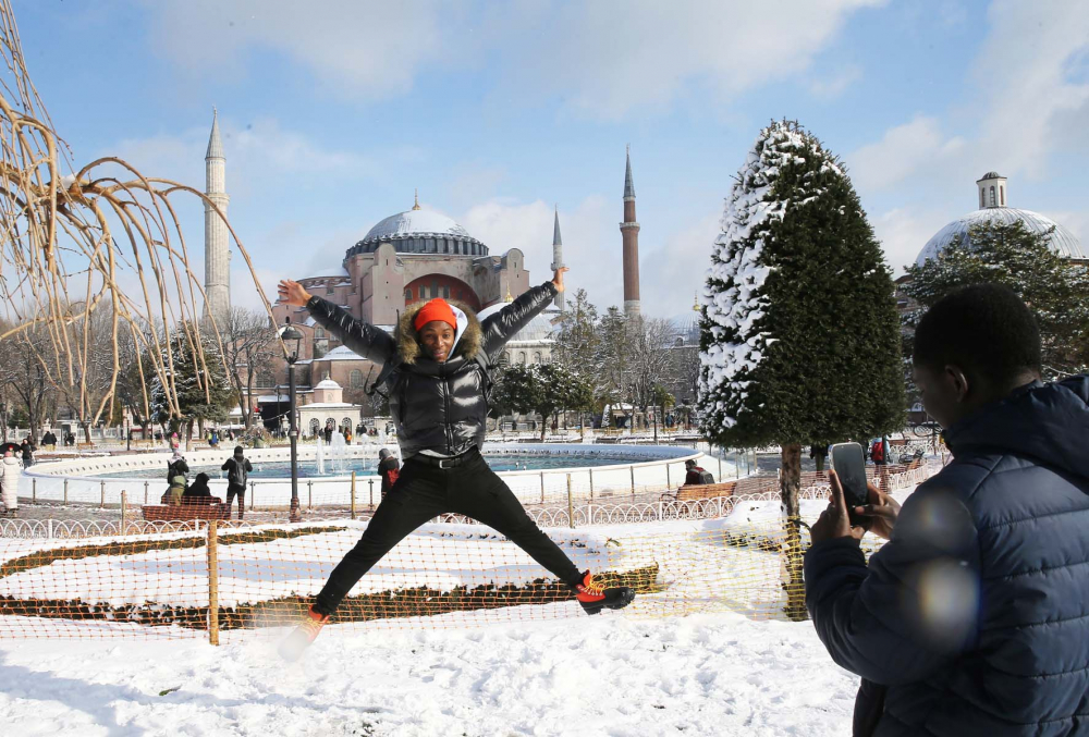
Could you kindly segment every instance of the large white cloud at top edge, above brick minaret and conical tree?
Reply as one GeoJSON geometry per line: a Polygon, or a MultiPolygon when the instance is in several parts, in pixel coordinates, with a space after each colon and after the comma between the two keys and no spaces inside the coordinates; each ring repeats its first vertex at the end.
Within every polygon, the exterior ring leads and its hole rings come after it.
{"type": "Polygon", "coordinates": [[[880,0],[641,0],[526,5],[494,13],[489,33],[507,51],[504,98],[562,96],[577,114],[621,119],[709,89],[717,101],[796,75],[846,19],[880,0]],[[542,32],[542,28],[544,29],[542,32]]]}

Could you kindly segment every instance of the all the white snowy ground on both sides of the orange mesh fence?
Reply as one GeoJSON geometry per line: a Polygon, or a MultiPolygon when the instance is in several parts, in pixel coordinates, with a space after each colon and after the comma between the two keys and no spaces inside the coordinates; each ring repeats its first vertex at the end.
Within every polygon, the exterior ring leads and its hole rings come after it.
{"type": "MultiPolygon", "coordinates": [[[[803,516],[825,504],[804,502],[803,516]]],[[[724,543],[773,532],[779,514],[778,502],[745,501],[723,519],[549,530],[588,567],[654,562],[664,590],[597,617],[567,601],[331,625],[294,665],[276,655],[283,628],[225,631],[216,648],[172,626],[5,617],[9,635],[30,639],[0,637],[2,734],[848,734],[857,679],[811,623],[767,619],[782,612],[779,555],[724,543]]],[[[313,593],[365,524],[342,526],[221,545],[223,600],[313,593]]],[[[88,541],[9,542],[0,558],[88,541]]],[[[203,549],[60,560],[5,577],[0,592],[123,603],[158,586],[157,600],[197,604],[205,566],[203,549]]],[[[428,525],[354,592],[542,574],[487,528],[428,525]]]]}

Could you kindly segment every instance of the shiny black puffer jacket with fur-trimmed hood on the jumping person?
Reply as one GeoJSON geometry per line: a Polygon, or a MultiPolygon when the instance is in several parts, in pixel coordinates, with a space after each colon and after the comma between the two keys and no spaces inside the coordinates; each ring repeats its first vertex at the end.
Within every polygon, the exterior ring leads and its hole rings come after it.
{"type": "Polygon", "coordinates": [[[546,282],[482,323],[470,308],[457,305],[469,323],[457,339],[453,356],[442,364],[426,354],[413,327],[424,303],[409,307],[401,316],[396,340],[321,297],[310,297],[306,308],[318,324],[359,356],[377,364],[391,364],[384,391],[390,397],[401,453],[409,458],[420,451],[460,455],[474,446],[484,447],[489,379],[477,356],[481,356],[485,365],[493,365],[506,342],[555,295],[555,286],[546,282]]]}

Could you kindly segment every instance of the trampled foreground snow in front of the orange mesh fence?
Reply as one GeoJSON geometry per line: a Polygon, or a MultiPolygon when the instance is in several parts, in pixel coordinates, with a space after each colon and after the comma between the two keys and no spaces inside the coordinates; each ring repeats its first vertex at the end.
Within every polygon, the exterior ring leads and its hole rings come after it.
{"type": "Polygon", "coordinates": [[[732,613],[330,626],[291,666],[276,643],[0,641],[3,732],[845,735],[856,689],[810,623],[732,613]]]}

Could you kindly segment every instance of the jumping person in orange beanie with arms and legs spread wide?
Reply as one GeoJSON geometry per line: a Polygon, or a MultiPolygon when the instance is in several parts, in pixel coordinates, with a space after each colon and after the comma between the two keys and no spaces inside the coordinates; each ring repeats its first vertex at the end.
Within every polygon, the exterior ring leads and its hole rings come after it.
{"type": "Polygon", "coordinates": [[[359,542],[333,568],[303,624],[281,648],[282,656],[297,659],[364,574],[417,527],[450,512],[505,536],[570,586],[588,614],[632,603],[633,589],[602,589],[588,570],[580,573],[480,455],[487,433],[487,367],[563,292],[565,271],[558,270],[552,281],[482,323],[470,309],[443,299],[411,306],[401,316],[395,339],[310,295],[298,282],[280,282],[280,302],[305,307],[348,348],[383,365],[378,383],[388,393],[404,458],[393,489],[359,542]]]}

